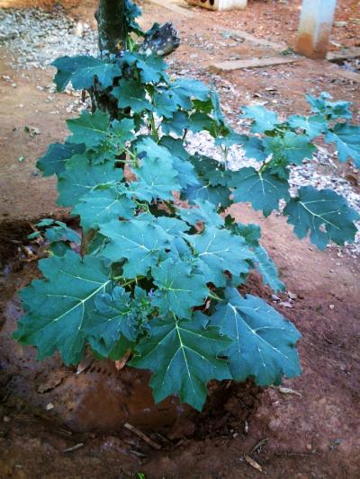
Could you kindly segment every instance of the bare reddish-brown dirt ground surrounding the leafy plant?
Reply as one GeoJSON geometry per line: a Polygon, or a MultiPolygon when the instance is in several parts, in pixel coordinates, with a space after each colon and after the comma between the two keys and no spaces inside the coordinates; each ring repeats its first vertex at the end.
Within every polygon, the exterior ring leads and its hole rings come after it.
{"type": "MultiPolygon", "coordinates": [[[[93,22],[94,0],[59,3],[73,17],[93,22]]],[[[55,2],[0,0],[0,7],[35,4],[51,7],[55,2]]],[[[255,99],[281,113],[300,113],[308,109],[305,93],[321,91],[336,100],[355,102],[358,111],[360,83],[344,77],[341,67],[329,62],[304,59],[221,75],[209,71],[214,61],[274,54],[271,47],[247,40],[233,45],[222,29],[247,31],[284,43],[284,49],[292,47],[300,0],[249,1],[247,10],[237,13],[182,9],[177,4],[180,10],[171,10],[173,2],[168,8],[142,4],[144,26],[173,20],[180,32],[182,45],[168,58],[172,70],[215,83],[234,124],[233,112],[255,99]]],[[[347,25],[334,28],[335,44],[358,46],[359,5],[338,2],[336,21],[347,25]]],[[[331,48],[338,49],[334,44],[331,48]]],[[[293,393],[275,388],[259,391],[251,384],[211,385],[211,397],[199,415],[179,409],[175,399],[159,406],[148,404],[144,377],[130,368],[121,373],[121,384],[141,383],[141,400],[131,387],[121,389],[111,364],[94,362],[76,375],[56,357],[37,363],[33,350],[11,340],[21,315],[15,293],[37,274],[36,262],[24,261],[22,249],[31,221],[64,215],[56,206],[55,183],[40,177],[35,162],[49,143],[65,137],[66,109],[74,101],[65,93],[49,93],[50,68],[15,71],[8,65],[11,56],[0,49],[0,306],[4,310],[0,320],[0,478],[112,479],[139,477],[136,473],[181,479],[359,477],[360,259],[338,248],[321,253],[307,241],[297,240],[284,217],[273,214],[264,220],[247,206],[233,207],[238,220],[262,226],[263,244],[287,291],[296,295],[292,307],[272,303],[302,333],[302,377],[284,381],[293,393]],[[40,134],[30,136],[26,126],[39,129],[40,134]],[[130,404],[142,404],[140,414],[121,409],[121,397],[126,395],[131,397],[130,404]],[[49,411],[48,404],[54,406],[49,411]],[[179,417],[175,423],[174,414],[179,417]],[[149,419],[154,417],[157,427],[149,419]],[[146,431],[161,448],[152,448],[121,427],[124,418],[146,431]],[[249,465],[244,455],[256,460],[263,472],[249,465]]],[[[360,182],[350,166],[340,168],[339,174],[349,171],[360,182]]],[[[256,276],[245,292],[273,301],[256,276]]],[[[280,297],[289,299],[287,294],[280,297]]]]}

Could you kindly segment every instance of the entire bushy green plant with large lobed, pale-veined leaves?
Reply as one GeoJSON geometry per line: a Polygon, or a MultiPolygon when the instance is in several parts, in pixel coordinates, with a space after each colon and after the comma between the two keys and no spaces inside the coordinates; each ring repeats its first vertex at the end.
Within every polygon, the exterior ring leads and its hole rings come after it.
{"type": "Polygon", "coordinates": [[[288,179],[290,165],[311,158],[311,141],[322,134],[337,144],[340,161],[360,164],[359,127],[347,122],[349,103],[323,93],[309,97],[315,114],[308,118],[280,121],[263,107],[244,107],[252,124],[239,135],[213,88],[169,77],[161,58],[128,45],[119,58],[54,62],[58,91],[71,82],[93,99],[93,112],[67,120],[66,143],[49,146],[38,162],[44,176],[58,176],[58,205],[79,217],[81,254],[69,228],[40,224],[49,258],[40,261],[43,279],[21,292],[26,315],[14,337],[35,345],[39,359],[58,350],[66,364],[78,363],[86,347],[110,359],[130,350],[131,366],[153,372],[156,401],[177,394],[201,410],[210,379],[253,377],[267,386],[301,373],[300,333],[261,298],[238,292],[253,269],[274,290],[284,284],[259,227],[236,223],[227,208],[249,201],[268,216],[283,200],[300,238],[310,232],[320,248],[352,241],[358,215],[346,200],[311,186],[292,197],[288,179]],[[187,132],[202,130],[223,162],[186,151],[187,132]],[[232,145],[258,168],[230,171],[232,145]]]}

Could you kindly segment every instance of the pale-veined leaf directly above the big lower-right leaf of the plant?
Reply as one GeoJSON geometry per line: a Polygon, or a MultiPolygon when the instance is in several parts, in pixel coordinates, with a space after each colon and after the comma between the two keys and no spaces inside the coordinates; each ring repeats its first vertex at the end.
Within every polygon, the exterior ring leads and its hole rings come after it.
{"type": "Polygon", "coordinates": [[[254,259],[241,236],[233,236],[227,229],[205,227],[201,235],[186,235],[193,253],[201,260],[201,271],[207,282],[225,286],[224,271],[238,277],[249,270],[248,260],[254,259]]]}

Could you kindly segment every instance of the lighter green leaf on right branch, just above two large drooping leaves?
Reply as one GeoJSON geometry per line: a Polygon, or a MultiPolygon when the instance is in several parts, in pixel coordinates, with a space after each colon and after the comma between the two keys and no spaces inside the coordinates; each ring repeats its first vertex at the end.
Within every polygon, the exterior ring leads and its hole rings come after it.
{"type": "Polygon", "coordinates": [[[297,135],[286,131],[284,137],[266,137],[264,146],[267,155],[272,154],[275,161],[284,160],[290,164],[302,164],[305,158],[312,158],[316,146],[312,145],[306,135],[297,135]]]}

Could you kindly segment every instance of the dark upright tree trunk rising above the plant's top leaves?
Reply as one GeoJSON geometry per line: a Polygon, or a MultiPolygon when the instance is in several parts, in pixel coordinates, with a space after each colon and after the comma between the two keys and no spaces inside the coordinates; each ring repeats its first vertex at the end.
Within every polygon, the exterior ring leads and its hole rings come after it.
{"type": "Polygon", "coordinates": [[[111,58],[125,49],[125,0],[100,0],[95,18],[101,58],[111,58]]]}

